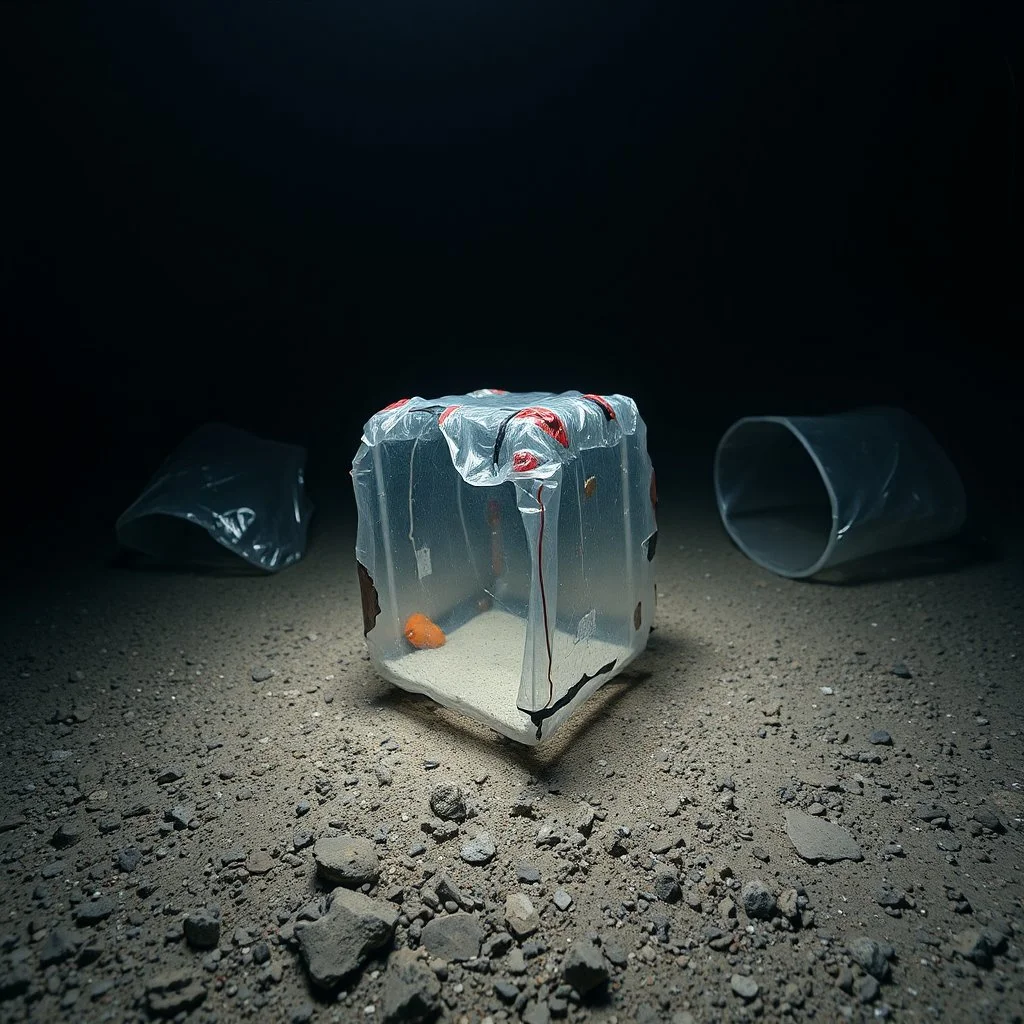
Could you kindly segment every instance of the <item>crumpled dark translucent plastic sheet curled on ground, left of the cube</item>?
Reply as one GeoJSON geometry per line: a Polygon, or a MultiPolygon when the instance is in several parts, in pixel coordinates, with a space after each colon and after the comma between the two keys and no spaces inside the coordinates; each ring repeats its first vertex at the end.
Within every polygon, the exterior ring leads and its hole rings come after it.
{"type": "Polygon", "coordinates": [[[118,518],[118,541],[163,563],[223,564],[236,555],[278,572],[305,553],[305,460],[298,445],[200,427],[118,518]]]}

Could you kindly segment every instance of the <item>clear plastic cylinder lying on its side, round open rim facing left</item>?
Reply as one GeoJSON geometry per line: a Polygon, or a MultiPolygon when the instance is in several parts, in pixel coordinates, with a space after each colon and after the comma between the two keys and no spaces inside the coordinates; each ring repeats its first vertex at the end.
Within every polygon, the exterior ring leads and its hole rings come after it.
{"type": "Polygon", "coordinates": [[[718,445],[715,493],[737,547],[791,578],[942,540],[967,516],[952,463],[901,409],[738,420],[718,445]]]}

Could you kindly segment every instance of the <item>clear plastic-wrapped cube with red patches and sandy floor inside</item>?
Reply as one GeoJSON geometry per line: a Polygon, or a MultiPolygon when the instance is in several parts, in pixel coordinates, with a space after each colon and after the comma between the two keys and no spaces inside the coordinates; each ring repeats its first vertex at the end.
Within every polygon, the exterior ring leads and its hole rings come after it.
{"type": "Polygon", "coordinates": [[[534,744],[646,646],[657,498],[631,398],[403,398],[352,482],[367,645],[397,686],[534,744]]]}

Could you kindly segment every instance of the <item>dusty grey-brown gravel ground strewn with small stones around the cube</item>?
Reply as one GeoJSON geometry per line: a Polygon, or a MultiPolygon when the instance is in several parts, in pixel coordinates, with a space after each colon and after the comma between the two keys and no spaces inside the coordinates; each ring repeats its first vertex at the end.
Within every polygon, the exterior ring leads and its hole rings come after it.
{"type": "Polygon", "coordinates": [[[791,583],[708,499],[663,496],[649,651],[537,751],[374,677],[337,509],[272,579],[27,582],[0,1019],[1020,1020],[1019,560],[791,583]],[[862,859],[804,859],[797,809],[862,859]],[[328,910],[342,835],[371,902],[328,910]]]}

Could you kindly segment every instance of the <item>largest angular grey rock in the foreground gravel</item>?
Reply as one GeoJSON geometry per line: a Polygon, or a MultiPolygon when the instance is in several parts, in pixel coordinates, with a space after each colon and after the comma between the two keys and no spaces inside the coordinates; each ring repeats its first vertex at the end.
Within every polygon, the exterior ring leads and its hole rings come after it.
{"type": "Polygon", "coordinates": [[[337,987],[391,941],[397,923],[398,911],[390,903],[336,889],[323,916],[295,929],[310,979],[321,988],[337,987]]]}

